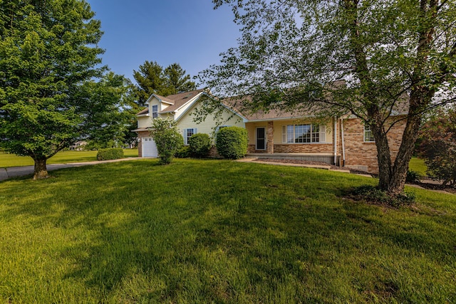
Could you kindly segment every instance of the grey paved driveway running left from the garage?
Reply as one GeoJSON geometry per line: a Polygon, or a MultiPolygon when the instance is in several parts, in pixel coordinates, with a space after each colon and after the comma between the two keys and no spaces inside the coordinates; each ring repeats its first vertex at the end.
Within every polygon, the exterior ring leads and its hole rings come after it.
{"type": "MultiPolygon", "coordinates": [[[[125,160],[134,160],[134,159],[145,159],[148,157],[127,157],[121,159],[110,159],[110,160],[96,160],[94,162],[68,162],[67,164],[48,164],[46,167],[48,171],[53,171],[56,169],[62,168],[72,168],[72,167],[82,167],[89,166],[91,164],[105,164],[108,162],[123,162],[125,160]]],[[[27,175],[33,174],[33,166],[24,166],[24,167],[9,167],[9,168],[0,168],[0,182],[11,177],[25,177],[27,175]]]]}

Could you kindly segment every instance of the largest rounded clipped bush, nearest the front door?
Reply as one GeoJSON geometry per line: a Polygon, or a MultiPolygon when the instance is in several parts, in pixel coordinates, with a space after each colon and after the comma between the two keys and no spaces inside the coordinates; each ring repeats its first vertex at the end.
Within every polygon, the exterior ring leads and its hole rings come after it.
{"type": "Polygon", "coordinates": [[[243,127],[222,127],[215,138],[217,152],[229,159],[244,157],[247,154],[247,143],[247,130],[243,127]]]}

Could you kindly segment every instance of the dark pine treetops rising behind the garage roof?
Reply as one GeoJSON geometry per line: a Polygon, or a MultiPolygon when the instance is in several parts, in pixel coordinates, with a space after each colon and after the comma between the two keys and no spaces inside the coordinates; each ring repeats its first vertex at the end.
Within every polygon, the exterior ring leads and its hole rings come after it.
{"type": "Polygon", "coordinates": [[[145,61],[138,71],[133,70],[133,77],[138,83],[138,104],[142,107],[152,94],[167,96],[196,88],[179,63],[172,63],[163,70],[157,62],[145,61]]]}

